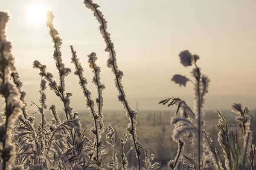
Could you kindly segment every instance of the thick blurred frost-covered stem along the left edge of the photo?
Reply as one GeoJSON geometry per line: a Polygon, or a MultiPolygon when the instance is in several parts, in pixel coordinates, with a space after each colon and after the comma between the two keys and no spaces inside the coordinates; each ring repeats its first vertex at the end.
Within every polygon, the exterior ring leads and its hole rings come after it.
{"type": "MultiPolygon", "coordinates": [[[[11,74],[16,73],[15,58],[12,55],[12,43],[7,40],[6,24],[10,14],[0,11],[0,97],[3,99],[3,122],[0,124],[0,168],[10,170],[15,158],[14,146],[11,142],[12,129],[15,120],[23,107],[20,92],[11,80],[11,74]]],[[[16,169],[21,169],[16,167],[16,169]]]]}

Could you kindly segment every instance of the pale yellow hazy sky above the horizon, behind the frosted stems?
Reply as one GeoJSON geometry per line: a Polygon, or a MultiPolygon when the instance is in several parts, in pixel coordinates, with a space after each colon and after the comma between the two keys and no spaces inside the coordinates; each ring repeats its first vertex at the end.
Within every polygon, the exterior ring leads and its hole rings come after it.
{"type": "MultiPolygon", "coordinates": [[[[0,10],[8,9],[8,25],[13,40],[17,70],[26,91],[26,100],[38,102],[40,76],[32,68],[35,59],[47,65],[57,79],[52,57],[53,44],[45,23],[35,25],[27,19],[27,7],[41,3],[55,15],[54,26],[63,39],[64,63],[71,63],[70,45],[74,45],[84,67],[88,88],[96,97],[91,83],[93,74],[87,63],[92,51],[102,68],[105,109],[122,109],[116,99],[114,76],[107,68],[108,53],[99,33],[99,24],[83,0],[0,0],[0,10]]],[[[255,0],[95,0],[108,21],[108,31],[115,45],[117,63],[124,72],[123,85],[132,107],[167,109],[157,102],[181,96],[192,105],[192,85],[180,88],[170,81],[173,74],[190,76],[191,67],[179,61],[180,51],[198,54],[198,65],[211,79],[207,109],[228,109],[232,102],[256,108],[256,1],[255,0]]],[[[85,99],[72,73],[66,79],[66,92],[73,93],[74,110],[85,108],[85,99]]],[[[48,89],[47,103],[62,105],[48,89]]]]}

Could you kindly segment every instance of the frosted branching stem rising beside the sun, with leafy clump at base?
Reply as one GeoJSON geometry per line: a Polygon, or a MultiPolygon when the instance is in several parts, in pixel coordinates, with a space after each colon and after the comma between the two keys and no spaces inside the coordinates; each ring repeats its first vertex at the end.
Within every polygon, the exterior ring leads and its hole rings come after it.
{"type": "MultiPolygon", "coordinates": [[[[43,166],[39,168],[48,168],[48,167],[84,167],[84,166],[93,166],[93,161],[96,161],[93,157],[93,160],[90,160],[92,156],[90,153],[94,150],[93,144],[86,136],[84,136],[84,130],[81,129],[78,116],[79,113],[73,113],[73,108],[70,107],[70,97],[71,93],[65,92],[65,79],[68,74],[70,74],[70,68],[65,68],[64,63],[61,59],[61,44],[62,40],[58,36],[58,31],[53,26],[54,16],[52,12],[47,12],[47,27],[49,27],[49,34],[52,37],[52,42],[54,43],[54,54],[53,58],[55,59],[55,65],[59,74],[59,85],[51,73],[46,71],[46,65],[42,65],[41,62],[35,60],[33,63],[34,68],[40,70],[40,75],[46,79],[49,83],[50,89],[55,92],[56,96],[61,99],[61,102],[64,105],[64,113],[66,115],[66,121],[61,123],[61,120],[58,117],[56,111],[56,106],[52,104],[49,107],[49,111],[52,113],[52,124],[48,124],[46,131],[47,134],[52,135],[46,140],[47,147],[45,151],[41,154],[43,157],[43,166]],[[56,140],[58,142],[56,142],[56,140]],[[54,160],[55,163],[51,160],[54,160]],[[83,163],[81,164],[81,161],[83,163]]],[[[42,93],[41,93],[42,94],[42,93]]],[[[91,102],[89,102],[91,104],[91,102]]],[[[101,105],[102,106],[102,105],[101,105]]],[[[102,116],[103,118],[103,116],[102,116]]],[[[96,120],[96,118],[95,118],[96,120]]],[[[97,122],[96,122],[97,123],[97,122]]],[[[99,123],[99,130],[103,129],[103,124],[99,123]]],[[[100,133],[99,133],[100,134],[100,133]]],[[[97,148],[103,147],[103,142],[97,140],[97,148]]],[[[98,151],[98,150],[97,150],[98,151]]],[[[104,151],[102,151],[104,152],[104,151]]],[[[98,152],[99,153],[99,152],[98,152]]],[[[103,153],[102,153],[103,155],[103,153]]],[[[39,158],[38,158],[39,159],[39,158]]],[[[100,165],[99,159],[97,159],[97,165],[100,165]]],[[[40,165],[40,159],[39,159],[40,165]]]]}

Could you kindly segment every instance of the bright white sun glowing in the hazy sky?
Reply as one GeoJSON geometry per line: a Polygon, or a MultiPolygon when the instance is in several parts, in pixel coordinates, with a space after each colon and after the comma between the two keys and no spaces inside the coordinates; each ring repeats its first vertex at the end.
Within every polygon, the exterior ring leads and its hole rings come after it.
{"type": "Polygon", "coordinates": [[[33,3],[27,7],[27,19],[29,22],[39,25],[46,21],[47,8],[41,3],[33,3]]]}

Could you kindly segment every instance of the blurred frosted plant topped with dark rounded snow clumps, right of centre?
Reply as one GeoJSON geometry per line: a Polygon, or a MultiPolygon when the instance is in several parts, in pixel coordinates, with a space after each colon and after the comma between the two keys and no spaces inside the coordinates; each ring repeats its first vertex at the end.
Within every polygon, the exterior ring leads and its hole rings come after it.
{"type": "Polygon", "coordinates": [[[204,95],[208,92],[209,79],[207,76],[201,74],[201,69],[197,65],[197,60],[199,59],[198,55],[192,55],[189,51],[182,51],[179,54],[180,62],[185,67],[194,65],[191,74],[195,81],[192,81],[185,76],[181,76],[179,74],[174,75],[172,81],[179,85],[186,86],[186,82],[192,82],[194,85],[195,96],[194,96],[194,111],[188,107],[188,105],[179,98],[168,98],[166,100],[161,101],[160,103],[166,104],[169,100],[172,99],[170,105],[177,105],[178,109],[181,110],[181,116],[172,119],[171,123],[176,125],[173,133],[173,139],[175,141],[181,139],[184,134],[194,134],[194,142],[197,150],[197,161],[198,161],[198,169],[201,170],[202,160],[204,158],[203,152],[203,134],[204,134],[204,121],[203,121],[203,104],[204,104],[204,95]],[[187,115],[187,110],[191,112],[187,115]],[[185,114],[184,114],[185,113],[185,114]],[[191,115],[191,116],[190,116],[191,115]],[[195,116],[194,116],[195,115],[195,116]]]}

